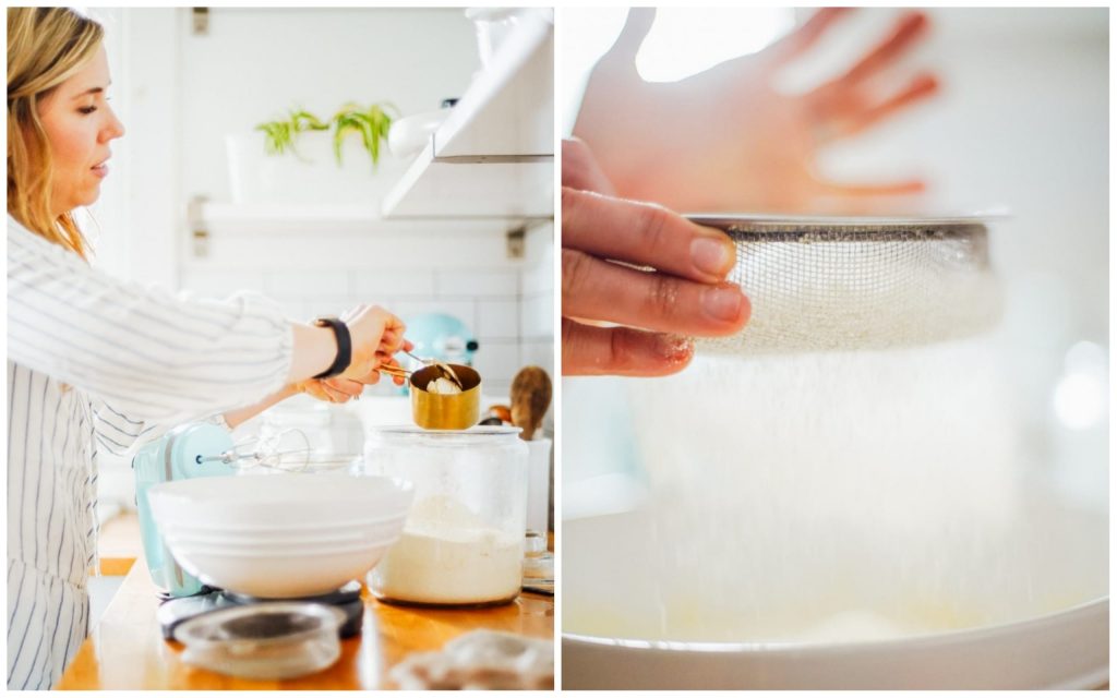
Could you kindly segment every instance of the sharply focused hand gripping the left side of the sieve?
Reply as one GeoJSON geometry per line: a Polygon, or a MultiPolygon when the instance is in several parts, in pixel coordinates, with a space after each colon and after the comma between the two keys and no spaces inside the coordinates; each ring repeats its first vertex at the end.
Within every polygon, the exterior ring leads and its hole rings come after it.
{"type": "Polygon", "coordinates": [[[585,145],[570,141],[563,143],[564,374],[676,373],[694,354],[679,335],[718,336],[744,326],[748,299],[725,283],[736,260],[725,233],[659,205],[579,188],[612,190],[585,145]]]}

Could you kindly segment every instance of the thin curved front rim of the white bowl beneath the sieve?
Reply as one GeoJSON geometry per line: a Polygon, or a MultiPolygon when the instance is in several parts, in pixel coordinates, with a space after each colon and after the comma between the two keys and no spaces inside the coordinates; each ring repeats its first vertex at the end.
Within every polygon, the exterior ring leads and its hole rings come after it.
{"type": "Polygon", "coordinates": [[[928,649],[943,644],[954,644],[961,641],[978,641],[1003,634],[1013,634],[1024,629],[1040,629],[1053,623],[1065,623],[1069,620],[1090,618],[1105,609],[1109,610],[1109,596],[1099,596],[1061,611],[1052,611],[1018,621],[945,630],[919,635],[896,638],[892,640],[853,640],[849,642],[690,642],[682,640],[634,640],[627,638],[603,638],[573,632],[563,632],[563,642],[571,641],[582,644],[609,647],[614,649],[647,650],[667,653],[750,653],[750,654],[843,654],[871,650],[907,650],[928,649]]]}

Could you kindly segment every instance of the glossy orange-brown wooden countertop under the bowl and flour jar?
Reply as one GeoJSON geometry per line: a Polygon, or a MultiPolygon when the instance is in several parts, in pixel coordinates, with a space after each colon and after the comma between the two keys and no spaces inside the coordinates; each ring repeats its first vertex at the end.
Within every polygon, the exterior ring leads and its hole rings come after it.
{"type": "Polygon", "coordinates": [[[56,689],[373,689],[395,688],[388,671],[411,652],[433,651],[476,629],[554,638],[554,599],[525,593],[495,609],[433,610],[380,603],[367,590],[360,637],[342,641],[333,667],[284,681],[238,679],[191,667],[183,647],[164,641],[155,620],[155,586],[142,558],[132,566],[101,622],[82,644],[56,689]]]}

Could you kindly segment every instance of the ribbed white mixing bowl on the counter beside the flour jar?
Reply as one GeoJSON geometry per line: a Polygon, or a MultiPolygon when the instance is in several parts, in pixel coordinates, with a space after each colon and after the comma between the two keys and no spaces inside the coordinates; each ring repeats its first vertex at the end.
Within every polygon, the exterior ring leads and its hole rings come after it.
{"type": "Polygon", "coordinates": [[[183,568],[266,599],[362,579],[399,538],[412,496],[409,482],[337,474],[198,478],[149,490],[160,535],[183,568]],[[355,538],[337,537],[346,529],[355,538]]]}

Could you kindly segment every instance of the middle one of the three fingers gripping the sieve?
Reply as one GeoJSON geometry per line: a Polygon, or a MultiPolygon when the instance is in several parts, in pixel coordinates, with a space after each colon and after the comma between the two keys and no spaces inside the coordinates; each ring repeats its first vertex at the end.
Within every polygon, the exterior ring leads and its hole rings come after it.
{"type": "Polygon", "coordinates": [[[699,284],[562,251],[562,312],[647,329],[722,336],[748,321],[748,299],[733,284],[699,284]]]}

